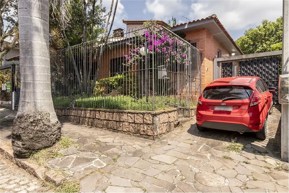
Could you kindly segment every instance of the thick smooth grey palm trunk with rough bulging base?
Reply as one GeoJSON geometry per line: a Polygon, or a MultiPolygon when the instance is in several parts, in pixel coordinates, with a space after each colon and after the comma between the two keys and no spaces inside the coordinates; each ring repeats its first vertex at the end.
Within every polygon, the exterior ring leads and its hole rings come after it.
{"type": "Polygon", "coordinates": [[[17,157],[49,148],[60,139],[50,83],[49,1],[18,0],[21,92],[13,123],[17,157]]]}

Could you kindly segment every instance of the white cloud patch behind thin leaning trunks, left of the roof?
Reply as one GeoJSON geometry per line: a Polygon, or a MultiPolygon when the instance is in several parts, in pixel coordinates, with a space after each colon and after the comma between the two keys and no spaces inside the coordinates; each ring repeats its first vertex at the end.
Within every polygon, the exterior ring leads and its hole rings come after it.
{"type": "MultiPolygon", "coordinates": [[[[102,4],[103,7],[106,7],[106,13],[109,12],[110,7],[111,7],[111,1],[112,0],[103,0],[102,4]]],[[[111,18],[110,18],[110,22],[112,20],[112,16],[113,16],[113,11],[114,11],[114,6],[115,6],[116,1],[114,1],[114,5],[113,5],[113,9],[112,9],[112,13],[111,13],[111,18]]],[[[117,4],[117,8],[116,8],[116,13],[115,13],[115,17],[114,17],[114,24],[113,24],[113,28],[112,29],[116,29],[119,27],[124,28],[125,24],[122,23],[122,20],[127,19],[127,13],[124,10],[124,6],[121,3],[121,0],[118,1],[117,4]]]]}

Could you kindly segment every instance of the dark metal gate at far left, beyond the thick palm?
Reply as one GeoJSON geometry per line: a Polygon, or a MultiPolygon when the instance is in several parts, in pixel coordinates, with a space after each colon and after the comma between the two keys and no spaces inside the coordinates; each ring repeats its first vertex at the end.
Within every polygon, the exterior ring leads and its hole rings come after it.
{"type": "Polygon", "coordinates": [[[19,64],[13,63],[0,67],[0,81],[0,107],[12,109],[13,106],[18,105],[20,97],[19,64]]]}

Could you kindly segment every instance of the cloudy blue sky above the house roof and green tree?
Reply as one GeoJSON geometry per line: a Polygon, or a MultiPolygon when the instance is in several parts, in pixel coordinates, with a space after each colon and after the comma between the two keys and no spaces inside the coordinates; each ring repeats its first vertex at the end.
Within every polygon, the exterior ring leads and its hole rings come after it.
{"type": "MultiPolygon", "coordinates": [[[[111,0],[103,0],[109,7],[111,0]]],[[[126,20],[159,19],[167,22],[172,16],[177,23],[216,14],[234,40],[245,29],[261,25],[263,19],[275,21],[282,16],[282,0],[119,0],[114,29],[126,20]]]]}

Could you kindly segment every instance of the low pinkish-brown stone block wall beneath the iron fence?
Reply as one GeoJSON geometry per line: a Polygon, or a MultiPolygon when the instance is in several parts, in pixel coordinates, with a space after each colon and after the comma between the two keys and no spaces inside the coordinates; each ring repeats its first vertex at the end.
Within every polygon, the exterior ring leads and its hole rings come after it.
{"type": "MultiPolygon", "coordinates": [[[[59,120],[71,121],[97,128],[123,132],[151,140],[172,131],[177,126],[177,109],[159,111],[132,111],[114,109],[68,109],[55,107],[59,120]]],[[[191,117],[195,116],[196,107],[191,107],[191,117]]]]}

